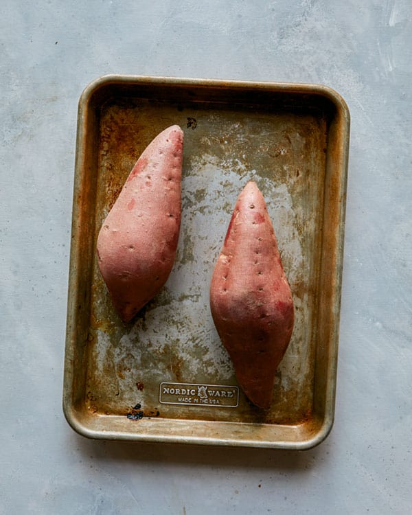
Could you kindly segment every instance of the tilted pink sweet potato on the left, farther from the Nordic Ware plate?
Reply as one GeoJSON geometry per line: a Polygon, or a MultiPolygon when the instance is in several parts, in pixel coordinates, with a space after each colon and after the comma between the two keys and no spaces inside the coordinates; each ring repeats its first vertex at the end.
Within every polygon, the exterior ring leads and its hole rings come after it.
{"type": "Polygon", "coordinates": [[[130,172],[98,235],[98,264],[123,321],[159,292],[172,271],[181,223],[183,131],[163,130],[130,172]]]}

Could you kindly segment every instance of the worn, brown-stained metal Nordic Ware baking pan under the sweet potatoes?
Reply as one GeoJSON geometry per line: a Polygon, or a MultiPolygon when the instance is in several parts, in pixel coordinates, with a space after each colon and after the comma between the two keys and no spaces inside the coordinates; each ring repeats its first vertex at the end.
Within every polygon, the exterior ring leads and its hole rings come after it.
{"type": "Polygon", "coordinates": [[[310,448],[334,417],[350,116],[328,87],[106,76],[78,112],[63,406],[91,438],[310,448]],[[183,214],[165,287],[131,323],[111,306],[95,242],[133,164],[185,132],[183,214]],[[233,205],[262,190],[295,304],[271,409],[238,387],[209,310],[233,205]]]}

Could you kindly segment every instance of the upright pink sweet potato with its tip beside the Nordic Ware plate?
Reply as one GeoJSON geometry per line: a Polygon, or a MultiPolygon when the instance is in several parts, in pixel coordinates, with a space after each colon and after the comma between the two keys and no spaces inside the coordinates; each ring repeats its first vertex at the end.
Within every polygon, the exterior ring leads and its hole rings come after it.
{"type": "Polygon", "coordinates": [[[294,310],[266,203],[253,181],[236,202],[211,279],[210,306],[240,387],[268,409],[294,310]]]}

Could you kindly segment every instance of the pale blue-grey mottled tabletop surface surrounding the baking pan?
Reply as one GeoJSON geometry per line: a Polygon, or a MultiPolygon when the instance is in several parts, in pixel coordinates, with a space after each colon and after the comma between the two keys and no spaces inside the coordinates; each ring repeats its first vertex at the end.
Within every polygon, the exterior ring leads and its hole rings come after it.
{"type": "Polygon", "coordinates": [[[0,513],[407,514],[412,3],[2,0],[0,513]],[[93,442],[61,409],[78,98],[107,73],[321,82],[352,115],[334,429],[297,453],[93,442]]]}

